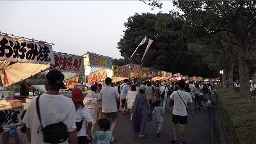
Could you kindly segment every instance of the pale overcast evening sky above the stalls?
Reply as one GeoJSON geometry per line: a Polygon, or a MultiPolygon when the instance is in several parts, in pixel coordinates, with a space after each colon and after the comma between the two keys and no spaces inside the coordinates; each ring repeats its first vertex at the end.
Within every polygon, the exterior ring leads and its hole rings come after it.
{"type": "MultiPolygon", "coordinates": [[[[161,1],[163,13],[175,9],[161,1]]],[[[53,51],[83,55],[87,51],[122,58],[117,42],[124,22],[134,13],[160,10],[137,1],[0,1],[0,31],[46,40],[53,51]]]]}

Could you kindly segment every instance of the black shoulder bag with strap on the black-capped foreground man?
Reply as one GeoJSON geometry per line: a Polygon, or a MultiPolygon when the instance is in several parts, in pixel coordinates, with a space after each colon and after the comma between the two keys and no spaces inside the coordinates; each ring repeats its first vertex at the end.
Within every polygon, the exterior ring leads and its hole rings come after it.
{"type": "MultiPolygon", "coordinates": [[[[44,142],[45,143],[62,143],[68,139],[68,132],[67,132],[67,126],[63,124],[63,122],[59,122],[56,124],[47,125],[46,127],[43,127],[41,122],[41,115],[40,115],[40,109],[39,109],[39,97],[36,98],[36,111],[37,115],[40,121],[40,124],[42,127],[41,131],[44,134],[44,142]]],[[[39,133],[39,127],[38,131],[39,133]]]]}

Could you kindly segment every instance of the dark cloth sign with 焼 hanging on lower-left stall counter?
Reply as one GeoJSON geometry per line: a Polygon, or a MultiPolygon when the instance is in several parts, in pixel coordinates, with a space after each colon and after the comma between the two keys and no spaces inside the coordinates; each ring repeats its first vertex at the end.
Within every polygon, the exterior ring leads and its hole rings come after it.
{"type": "Polygon", "coordinates": [[[3,127],[13,127],[15,125],[21,125],[21,115],[24,111],[24,106],[19,111],[12,111],[12,108],[1,109],[6,115],[6,121],[3,124],[3,127]]]}

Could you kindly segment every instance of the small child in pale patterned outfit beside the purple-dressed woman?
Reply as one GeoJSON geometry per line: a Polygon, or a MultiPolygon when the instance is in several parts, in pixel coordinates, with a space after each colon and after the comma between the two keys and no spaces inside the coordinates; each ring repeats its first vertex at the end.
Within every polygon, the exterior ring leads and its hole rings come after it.
{"type": "Polygon", "coordinates": [[[157,132],[156,135],[159,137],[160,130],[162,129],[162,125],[165,119],[164,116],[164,109],[161,107],[161,100],[156,100],[155,102],[156,107],[154,108],[153,113],[153,122],[157,122],[157,132]]]}

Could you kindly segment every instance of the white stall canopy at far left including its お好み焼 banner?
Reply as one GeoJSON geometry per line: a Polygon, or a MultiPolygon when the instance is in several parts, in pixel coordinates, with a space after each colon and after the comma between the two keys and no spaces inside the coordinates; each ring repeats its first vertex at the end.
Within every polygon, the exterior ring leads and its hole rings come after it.
{"type": "Polygon", "coordinates": [[[0,75],[4,87],[38,74],[53,64],[51,44],[0,33],[0,75]]]}

